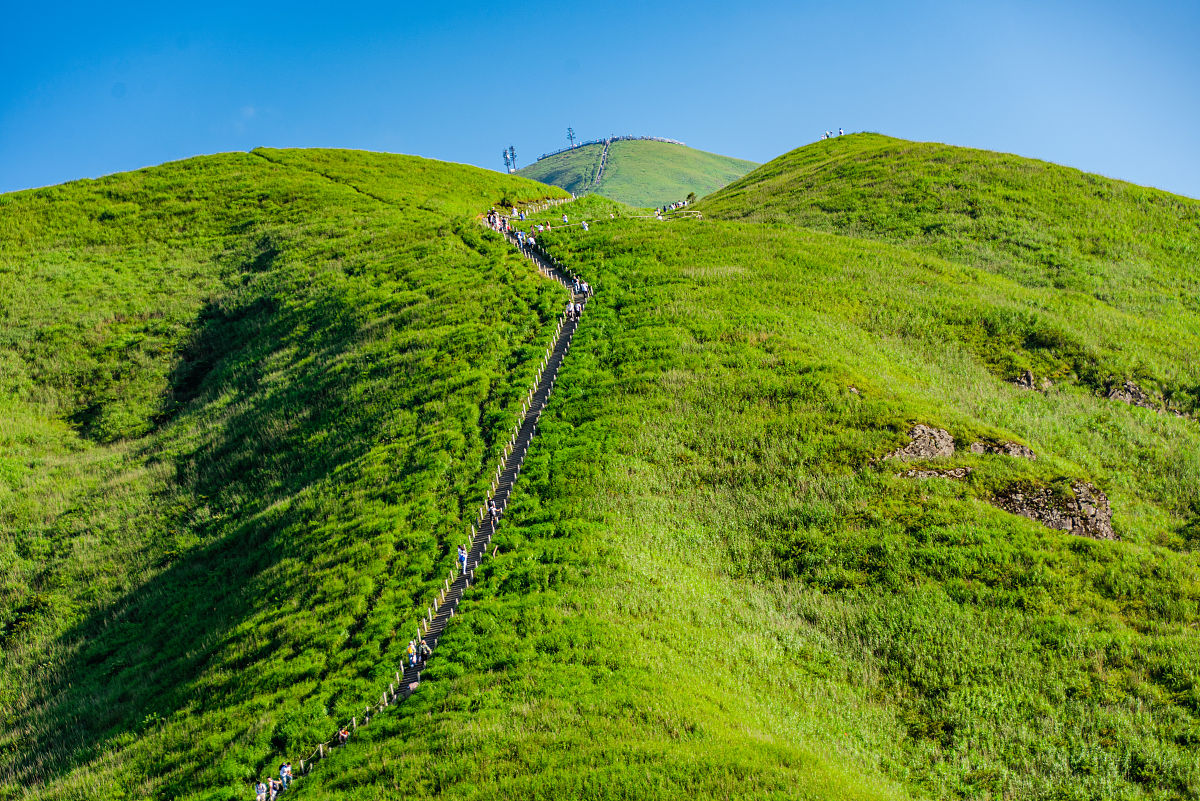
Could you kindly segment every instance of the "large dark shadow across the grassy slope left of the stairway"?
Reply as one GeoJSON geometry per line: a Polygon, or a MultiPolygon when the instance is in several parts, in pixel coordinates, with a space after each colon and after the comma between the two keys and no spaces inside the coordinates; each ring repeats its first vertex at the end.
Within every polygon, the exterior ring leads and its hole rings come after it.
{"type": "Polygon", "coordinates": [[[348,379],[331,367],[359,337],[347,299],[284,308],[270,293],[242,295],[202,311],[172,375],[152,447],[169,454],[182,499],[161,499],[173,506],[172,530],[146,537],[162,570],[52,646],[67,656],[17,710],[19,785],[60,777],[168,718],[271,689],[247,671],[275,644],[236,630],[280,594],[302,594],[264,573],[284,555],[316,558],[320,543],[301,535],[328,510],[305,489],[370,447],[379,412],[352,412],[348,379]],[[198,444],[188,439],[197,433],[198,444]],[[200,544],[176,554],[167,544],[175,534],[200,544]]]}

